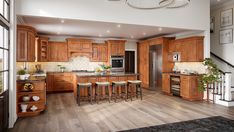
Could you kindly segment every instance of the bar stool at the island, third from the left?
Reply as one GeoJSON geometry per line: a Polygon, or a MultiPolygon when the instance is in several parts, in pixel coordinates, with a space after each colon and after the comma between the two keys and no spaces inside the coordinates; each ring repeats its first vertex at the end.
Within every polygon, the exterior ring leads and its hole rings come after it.
{"type": "Polygon", "coordinates": [[[126,81],[113,81],[112,82],[112,95],[111,95],[111,98],[114,97],[115,98],[115,102],[117,100],[117,97],[118,97],[118,88],[121,88],[121,93],[120,93],[120,96],[123,97],[124,96],[124,99],[125,101],[127,101],[127,82],[126,81]],[[122,91],[122,88],[124,89],[122,91]]]}

